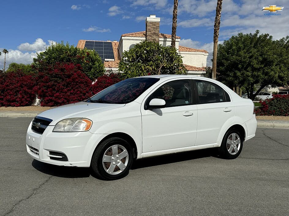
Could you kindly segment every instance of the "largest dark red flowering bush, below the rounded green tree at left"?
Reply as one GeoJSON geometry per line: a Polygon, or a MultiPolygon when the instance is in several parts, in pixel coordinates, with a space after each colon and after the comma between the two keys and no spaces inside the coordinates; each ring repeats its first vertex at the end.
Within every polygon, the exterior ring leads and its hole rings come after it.
{"type": "Polygon", "coordinates": [[[81,72],[81,65],[56,63],[37,74],[34,88],[41,106],[61,106],[76,103],[91,96],[92,81],[81,72]]]}

